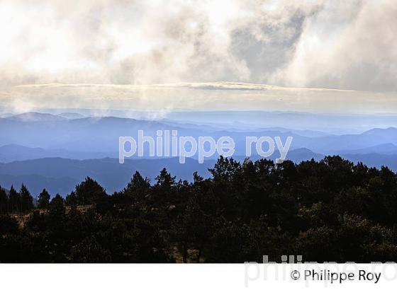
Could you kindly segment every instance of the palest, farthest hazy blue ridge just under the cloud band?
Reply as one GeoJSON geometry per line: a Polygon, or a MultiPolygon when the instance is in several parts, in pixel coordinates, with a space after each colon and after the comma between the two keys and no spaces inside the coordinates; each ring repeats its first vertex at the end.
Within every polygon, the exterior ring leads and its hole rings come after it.
{"type": "MultiPolygon", "coordinates": [[[[215,127],[226,126],[228,128],[234,127],[235,129],[243,130],[248,128],[283,127],[291,130],[320,131],[327,134],[357,134],[376,127],[395,127],[397,124],[397,114],[332,114],[255,110],[152,112],[75,108],[43,109],[40,112],[50,113],[52,115],[77,113],[83,116],[132,117],[138,120],[207,124],[215,127]]],[[[1,115],[5,117],[9,114],[3,109],[1,115]]]]}

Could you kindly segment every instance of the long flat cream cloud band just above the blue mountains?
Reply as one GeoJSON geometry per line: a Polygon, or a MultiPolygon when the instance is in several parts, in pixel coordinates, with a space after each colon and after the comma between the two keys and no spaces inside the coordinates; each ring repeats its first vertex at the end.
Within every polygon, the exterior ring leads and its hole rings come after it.
{"type": "MultiPolygon", "coordinates": [[[[151,85],[47,83],[0,90],[0,111],[87,108],[172,112],[177,110],[287,110],[395,113],[394,93],[296,88],[243,82],[183,82],[151,85]]],[[[133,115],[131,115],[133,117],[133,115]]]]}

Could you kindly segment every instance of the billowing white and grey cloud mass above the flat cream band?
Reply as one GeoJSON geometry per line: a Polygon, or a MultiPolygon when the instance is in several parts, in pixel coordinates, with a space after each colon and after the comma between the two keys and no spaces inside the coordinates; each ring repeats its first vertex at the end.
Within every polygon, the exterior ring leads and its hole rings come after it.
{"type": "Polygon", "coordinates": [[[0,86],[395,92],[396,26],[393,0],[3,0],[0,86]]]}

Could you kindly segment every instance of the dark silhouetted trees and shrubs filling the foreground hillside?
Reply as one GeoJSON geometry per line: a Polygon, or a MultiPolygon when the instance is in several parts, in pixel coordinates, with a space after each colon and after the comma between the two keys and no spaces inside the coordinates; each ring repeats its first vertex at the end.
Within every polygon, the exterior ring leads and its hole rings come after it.
{"type": "Polygon", "coordinates": [[[397,262],[397,175],[338,156],[298,165],[220,158],[213,177],[62,199],[0,190],[0,262],[397,262]]]}

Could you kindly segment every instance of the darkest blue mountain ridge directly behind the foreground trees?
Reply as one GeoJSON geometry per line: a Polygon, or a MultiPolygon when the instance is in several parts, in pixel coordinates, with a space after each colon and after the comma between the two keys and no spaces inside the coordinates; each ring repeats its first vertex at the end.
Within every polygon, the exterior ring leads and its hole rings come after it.
{"type": "MultiPolygon", "coordinates": [[[[278,158],[277,154],[270,156],[269,159],[278,158]]],[[[313,153],[308,149],[296,149],[287,155],[288,160],[296,163],[310,160],[311,158],[319,161],[324,156],[313,153]]],[[[235,156],[237,161],[244,161],[245,156],[235,156]]],[[[252,156],[252,160],[257,160],[259,156],[252,156]]],[[[397,154],[342,154],[354,163],[359,161],[369,167],[388,166],[397,171],[397,154]]],[[[138,170],[143,176],[155,180],[162,168],[176,175],[182,180],[192,180],[193,173],[207,178],[210,176],[208,168],[212,168],[216,163],[215,159],[206,160],[203,164],[198,161],[186,158],[185,164],[179,163],[179,158],[161,159],[136,159],[125,160],[124,164],[118,163],[116,158],[102,158],[91,160],[72,160],[65,158],[41,158],[28,161],[15,161],[11,163],[0,163],[0,185],[9,188],[21,186],[22,183],[28,186],[33,196],[36,196],[43,187],[50,191],[52,195],[61,193],[66,195],[74,189],[77,183],[82,182],[88,175],[103,185],[109,193],[121,190],[130,180],[133,173],[138,170]]]]}

